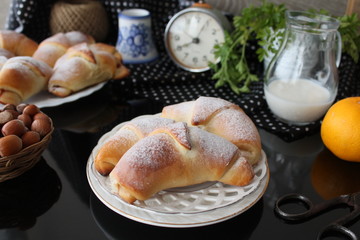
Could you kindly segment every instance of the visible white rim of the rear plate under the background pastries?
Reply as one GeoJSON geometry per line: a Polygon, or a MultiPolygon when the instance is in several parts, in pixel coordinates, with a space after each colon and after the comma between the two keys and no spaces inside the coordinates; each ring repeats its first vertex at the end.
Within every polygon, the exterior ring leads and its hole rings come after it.
{"type": "Polygon", "coordinates": [[[47,91],[42,91],[27,99],[25,102],[35,104],[39,108],[54,107],[64,103],[74,102],[80,98],[89,96],[93,92],[100,90],[105,84],[106,82],[96,84],[92,87],[86,88],[80,92],[73,93],[70,96],[64,98],[57,97],[47,91]]]}

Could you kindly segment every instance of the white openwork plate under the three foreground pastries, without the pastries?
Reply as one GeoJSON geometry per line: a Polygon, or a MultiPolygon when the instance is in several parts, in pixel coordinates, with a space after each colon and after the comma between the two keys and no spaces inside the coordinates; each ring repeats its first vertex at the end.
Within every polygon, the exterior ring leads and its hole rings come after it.
{"type": "MultiPolygon", "coordinates": [[[[145,116],[141,116],[145,117],[145,116]]],[[[128,204],[112,193],[108,177],[94,168],[94,157],[104,142],[125,123],[103,135],[87,164],[89,184],[96,196],[110,209],[135,221],[166,227],[195,227],[235,217],[253,206],[264,194],[269,181],[265,153],[254,167],[255,177],[245,187],[206,182],[161,191],[146,201],[128,204]]]]}

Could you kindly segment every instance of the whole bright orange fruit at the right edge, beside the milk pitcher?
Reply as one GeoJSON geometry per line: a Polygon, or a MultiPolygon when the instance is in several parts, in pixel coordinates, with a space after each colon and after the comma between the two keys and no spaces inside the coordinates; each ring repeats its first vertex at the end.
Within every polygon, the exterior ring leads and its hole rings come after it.
{"type": "Polygon", "coordinates": [[[321,138],[337,157],[360,162],[360,97],[332,105],[321,124],[321,138]]]}

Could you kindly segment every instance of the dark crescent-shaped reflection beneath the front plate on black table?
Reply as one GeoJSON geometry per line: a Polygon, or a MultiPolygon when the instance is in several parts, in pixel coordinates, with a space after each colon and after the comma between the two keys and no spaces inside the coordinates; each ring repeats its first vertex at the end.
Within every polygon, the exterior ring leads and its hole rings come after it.
{"type": "Polygon", "coordinates": [[[90,207],[95,222],[108,239],[225,239],[230,236],[249,239],[262,217],[263,200],[224,222],[184,229],[156,227],[127,219],[106,207],[94,194],[90,196],[90,207]]]}

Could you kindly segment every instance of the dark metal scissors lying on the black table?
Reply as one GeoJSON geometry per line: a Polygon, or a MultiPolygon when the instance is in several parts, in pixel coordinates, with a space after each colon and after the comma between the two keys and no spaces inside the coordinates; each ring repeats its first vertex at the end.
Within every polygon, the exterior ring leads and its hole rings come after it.
{"type": "Polygon", "coordinates": [[[331,209],[344,206],[350,209],[350,213],[322,229],[318,234],[317,239],[323,239],[326,236],[334,236],[332,234],[336,233],[352,240],[359,240],[355,233],[346,226],[354,223],[360,216],[360,192],[341,195],[319,204],[313,204],[307,197],[301,194],[289,194],[276,201],[274,211],[278,217],[287,222],[300,223],[331,209]],[[282,209],[284,208],[284,205],[292,203],[300,204],[306,210],[300,213],[289,213],[282,209]]]}

